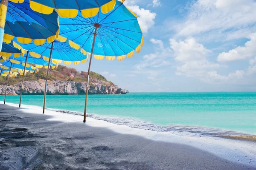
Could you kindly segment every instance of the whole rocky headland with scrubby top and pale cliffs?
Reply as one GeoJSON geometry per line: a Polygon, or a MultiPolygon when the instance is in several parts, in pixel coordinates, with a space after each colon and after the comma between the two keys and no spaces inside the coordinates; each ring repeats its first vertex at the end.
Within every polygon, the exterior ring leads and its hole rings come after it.
{"type": "MultiPolygon", "coordinates": [[[[46,69],[40,68],[37,73],[27,73],[23,82],[24,95],[44,94],[46,69]]],[[[0,77],[0,95],[5,94],[7,77],[0,77]]],[[[8,95],[19,95],[22,76],[10,77],[8,95]]],[[[74,68],[67,68],[59,65],[58,68],[49,70],[47,94],[85,94],[87,72],[77,71],[74,68]]],[[[95,72],[90,72],[88,94],[126,94],[127,90],[118,88],[113,82],[95,72]]]]}

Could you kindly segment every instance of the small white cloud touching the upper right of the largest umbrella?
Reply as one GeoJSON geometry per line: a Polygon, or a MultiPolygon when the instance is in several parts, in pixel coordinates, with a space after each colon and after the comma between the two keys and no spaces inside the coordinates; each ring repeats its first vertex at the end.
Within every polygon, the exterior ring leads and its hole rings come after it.
{"type": "Polygon", "coordinates": [[[156,13],[151,12],[148,9],[140,8],[137,5],[128,6],[128,8],[130,8],[131,11],[133,11],[135,14],[137,14],[138,22],[140,24],[140,27],[141,27],[143,33],[147,33],[148,29],[154,26],[154,24],[155,24],[154,19],[157,15],[156,13]]]}

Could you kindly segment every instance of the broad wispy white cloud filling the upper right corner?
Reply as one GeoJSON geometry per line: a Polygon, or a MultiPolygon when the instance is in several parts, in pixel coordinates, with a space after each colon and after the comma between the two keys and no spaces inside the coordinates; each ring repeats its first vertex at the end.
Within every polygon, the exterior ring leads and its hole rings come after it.
{"type": "Polygon", "coordinates": [[[168,24],[176,37],[231,40],[256,30],[255,8],[255,0],[197,0],[188,5],[184,20],[168,24]]]}

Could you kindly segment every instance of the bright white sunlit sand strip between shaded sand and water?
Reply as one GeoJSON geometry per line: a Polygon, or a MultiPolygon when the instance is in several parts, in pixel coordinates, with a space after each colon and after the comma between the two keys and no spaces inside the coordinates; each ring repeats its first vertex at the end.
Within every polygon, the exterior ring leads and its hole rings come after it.
{"type": "MultiPolygon", "coordinates": [[[[3,102],[0,102],[1,104],[3,102]]],[[[18,107],[17,104],[6,103],[7,105],[18,107]]],[[[42,108],[38,106],[22,105],[21,111],[26,113],[42,114],[42,108]]],[[[68,113],[46,110],[45,115],[52,116],[48,121],[76,122],[82,124],[83,117],[68,113]]],[[[178,132],[157,132],[151,130],[137,129],[126,125],[116,125],[103,120],[90,117],[86,118],[86,125],[92,127],[105,127],[117,133],[139,135],[153,141],[172,142],[187,144],[200,150],[205,150],[229,161],[256,167],[256,143],[250,141],[239,141],[234,139],[224,139],[213,136],[189,136],[187,133],[178,132]]]]}

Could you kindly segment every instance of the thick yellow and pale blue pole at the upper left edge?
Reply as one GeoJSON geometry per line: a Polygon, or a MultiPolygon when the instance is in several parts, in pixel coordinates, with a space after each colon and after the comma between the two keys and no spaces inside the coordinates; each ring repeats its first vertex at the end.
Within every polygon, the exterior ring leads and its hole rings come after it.
{"type": "Polygon", "coordinates": [[[6,22],[6,13],[9,0],[1,0],[0,5],[0,51],[2,51],[4,26],[6,22]]]}

